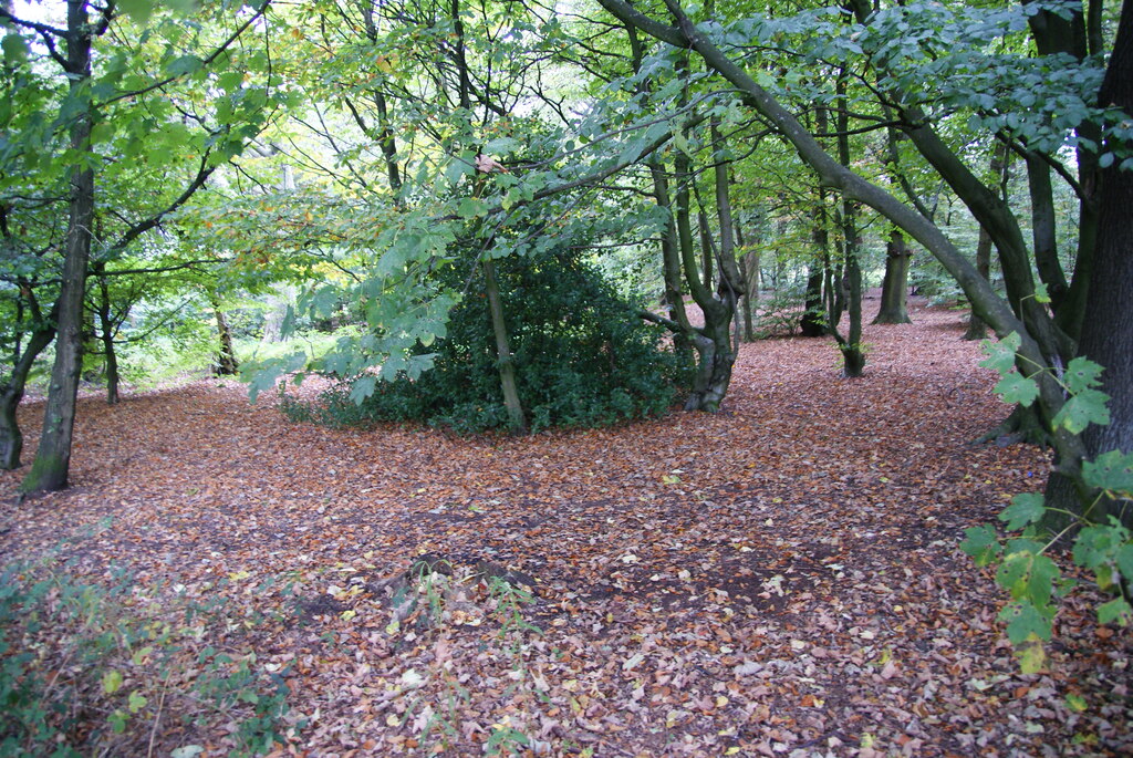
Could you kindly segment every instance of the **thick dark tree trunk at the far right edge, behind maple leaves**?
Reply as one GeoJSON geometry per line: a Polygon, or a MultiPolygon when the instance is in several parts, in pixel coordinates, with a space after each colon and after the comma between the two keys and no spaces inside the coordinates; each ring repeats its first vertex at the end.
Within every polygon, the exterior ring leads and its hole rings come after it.
{"type": "MultiPolygon", "coordinates": [[[[1113,56],[1101,85],[1099,103],[1133,112],[1133,0],[1122,3],[1121,24],[1113,56]]],[[[1090,426],[1083,433],[1087,455],[1110,450],[1133,452],[1133,171],[1123,171],[1114,161],[1101,172],[1098,242],[1090,280],[1090,297],[1082,322],[1080,355],[1105,367],[1102,391],[1109,394],[1109,424],[1090,426]]],[[[1081,513],[1084,503],[1055,472],[1047,480],[1048,510],[1045,526],[1059,528],[1065,517],[1054,509],[1081,513]]],[[[1105,522],[1108,514],[1124,517],[1133,526],[1133,504],[1102,502],[1089,513],[1105,522]]]]}

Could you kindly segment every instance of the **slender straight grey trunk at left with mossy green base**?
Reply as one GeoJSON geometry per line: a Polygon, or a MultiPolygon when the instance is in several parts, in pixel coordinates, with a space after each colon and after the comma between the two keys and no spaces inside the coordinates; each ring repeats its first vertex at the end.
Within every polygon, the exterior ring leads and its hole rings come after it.
{"type": "MultiPolygon", "coordinates": [[[[91,34],[86,0],[69,0],[67,5],[67,73],[70,92],[79,102],[87,102],[91,78],[91,34]]],[[[70,146],[79,155],[90,151],[93,116],[87,102],[71,116],[70,146]]],[[[56,340],[56,363],[51,369],[51,386],[43,414],[43,433],[35,461],[20,489],[25,493],[52,492],[67,486],[70,471],[71,434],[78,399],[79,374],[83,371],[83,299],[87,262],[91,257],[94,221],[94,170],[86,162],[71,170],[70,211],[67,222],[66,257],[62,287],[59,291],[59,335],[56,340]]]]}

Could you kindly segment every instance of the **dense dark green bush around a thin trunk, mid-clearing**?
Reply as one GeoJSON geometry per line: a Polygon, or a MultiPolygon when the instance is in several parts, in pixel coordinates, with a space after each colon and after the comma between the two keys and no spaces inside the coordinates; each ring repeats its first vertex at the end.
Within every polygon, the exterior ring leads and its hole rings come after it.
{"type": "MultiPolygon", "coordinates": [[[[533,431],[593,427],[664,412],[679,371],[662,332],[646,325],[591,265],[565,247],[497,261],[517,382],[533,431]]],[[[467,275],[467,267],[460,272],[467,275]]],[[[457,275],[457,274],[454,274],[457,275]]],[[[487,298],[472,288],[432,346],[432,371],[380,384],[360,406],[349,383],[297,419],[335,426],[425,421],[458,433],[506,426],[487,298]]]]}

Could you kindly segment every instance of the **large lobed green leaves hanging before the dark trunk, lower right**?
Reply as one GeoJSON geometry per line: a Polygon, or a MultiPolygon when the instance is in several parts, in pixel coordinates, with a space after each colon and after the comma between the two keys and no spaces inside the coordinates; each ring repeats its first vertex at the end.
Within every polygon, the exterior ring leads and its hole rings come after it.
{"type": "MultiPolygon", "coordinates": [[[[995,391],[1005,402],[1030,406],[1038,398],[1033,377],[1015,369],[1021,344],[1012,333],[998,343],[985,342],[988,358],[981,366],[1002,376],[995,391]]],[[[1074,434],[1090,424],[1108,424],[1109,397],[1098,390],[1101,366],[1085,358],[1074,358],[1065,372],[1055,378],[1066,393],[1066,402],[1054,418],[1056,427],[1074,434]]],[[[1098,587],[1114,597],[1098,606],[1098,622],[1128,625],[1133,621],[1130,589],[1133,582],[1133,537],[1123,525],[1125,509],[1133,502],[1133,453],[1111,450],[1082,463],[1082,482],[1094,493],[1094,500],[1081,513],[1060,511],[1068,525],[1057,535],[1040,530],[1048,505],[1039,493],[1016,495],[1000,514],[1008,531],[1017,537],[1003,540],[991,525],[969,528],[961,548],[977,565],[996,565],[996,582],[1011,593],[1011,603],[1000,613],[1007,622],[1007,637],[1020,656],[1024,673],[1039,671],[1045,661],[1043,642],[1050,639],[1051,622],[1057,613],[1055,601],[1070,593],[1074,582],[1062,577],[1047,555],[1067,535],[1074,535],[1073,561],[1090,571],[1098,587]],[[1098,519],[1100,503],[1118,502],[1121,517],[1098,519]]]]}

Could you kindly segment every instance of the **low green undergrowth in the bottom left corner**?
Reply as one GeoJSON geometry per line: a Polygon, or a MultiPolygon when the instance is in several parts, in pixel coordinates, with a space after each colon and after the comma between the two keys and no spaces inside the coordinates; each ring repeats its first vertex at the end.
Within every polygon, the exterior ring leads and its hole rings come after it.
{"type": "Polygon", "coordinates": [[[198,649],[220,604],[138,603],[155,590],[126,574],[90,584],[54,561],[0,570],[0,756],[140,755],[178,718],[189,733],[231,726],[232,756],[274,748],[279,674],[250,651],[198,649]]]}

